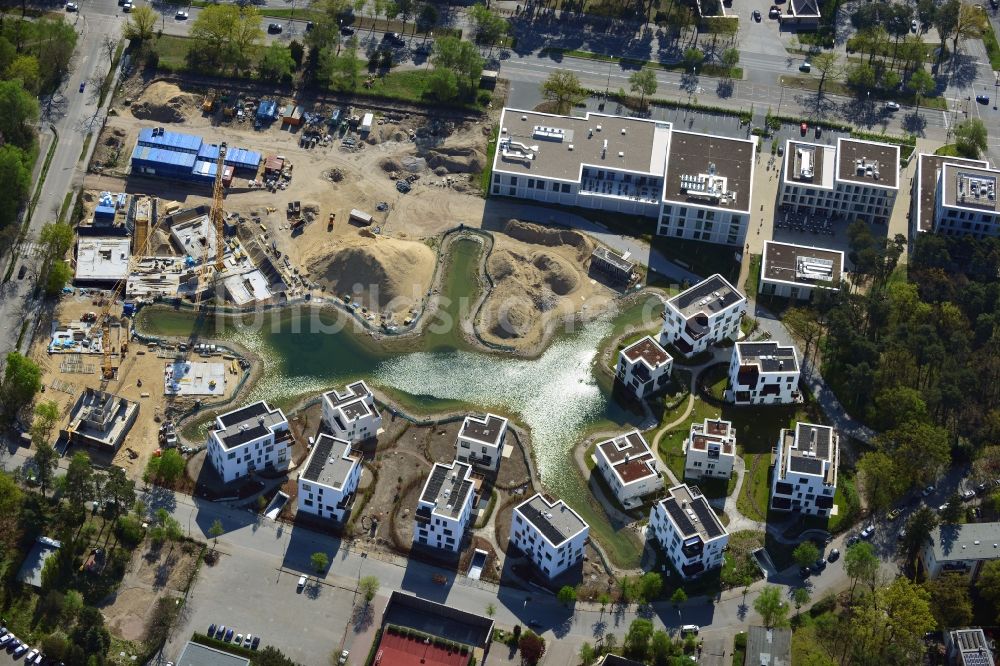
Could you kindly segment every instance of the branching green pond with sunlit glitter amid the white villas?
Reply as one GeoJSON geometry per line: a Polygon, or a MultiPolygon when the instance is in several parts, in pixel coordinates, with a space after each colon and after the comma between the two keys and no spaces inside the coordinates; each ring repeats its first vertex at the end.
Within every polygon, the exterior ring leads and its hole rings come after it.
{"type": "MultiPolygon", "coordinates": [[[[260,380],[241,400],[266,399],[289,405],[358,378],[390,394],[414,413],[492,409],[531,429],[538,471],[545,486],[565,499],[619,565],[635,565],[640,544],[632,533],[613,534],[603,510],[573,461],[574,446],[588,432],[635,425],[640,416],[611,398],[611,381],[595,374],[602,342],[626,328],[659,321],[655,297],[608,313],[575,330],[560,332],[536,359],[473,350],[457,322],[467,319],[478,289],[482,246],[471,240],[451,244],[442,285],[448,296],[424,335],[411,340],[373,341],[358,334],[348,318],[318,308],[283,309],[246,319],[208,320],[201,334],[238,341],[263,364],[260,380]]],[[[151,335],[187,335],[194,315],[147,308],[139,321],[151,335]]]]}

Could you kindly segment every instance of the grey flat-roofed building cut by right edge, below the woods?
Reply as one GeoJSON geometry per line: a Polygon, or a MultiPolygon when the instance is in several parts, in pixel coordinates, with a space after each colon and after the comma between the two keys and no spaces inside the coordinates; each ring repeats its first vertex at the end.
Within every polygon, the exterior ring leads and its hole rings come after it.
{"type": "Polygon", "coordinates": [[[960,573],[975,582],[983,565],[1000,558],[1000,523],[945,523],[931,531],[920,553],[928,578],[960,573]]]}

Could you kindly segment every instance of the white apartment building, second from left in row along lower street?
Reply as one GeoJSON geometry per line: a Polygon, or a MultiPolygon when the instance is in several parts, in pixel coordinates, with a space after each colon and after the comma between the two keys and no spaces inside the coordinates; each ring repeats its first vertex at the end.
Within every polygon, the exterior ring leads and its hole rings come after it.
{"type": "Polygon", "coordinates": [[[361,455],[351,443],[323,433],[299,473],[299,512],[343,521],[361,481],[361,455]]]}

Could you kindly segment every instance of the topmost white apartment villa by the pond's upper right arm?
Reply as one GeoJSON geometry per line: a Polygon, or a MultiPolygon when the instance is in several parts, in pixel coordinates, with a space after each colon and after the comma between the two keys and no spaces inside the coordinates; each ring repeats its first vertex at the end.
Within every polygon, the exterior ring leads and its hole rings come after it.
{"type": "Polygon", "coordinates": [[[691,356],[740,334],[747,299],[718,273],[667,301],[660,344],[691,356]]]}

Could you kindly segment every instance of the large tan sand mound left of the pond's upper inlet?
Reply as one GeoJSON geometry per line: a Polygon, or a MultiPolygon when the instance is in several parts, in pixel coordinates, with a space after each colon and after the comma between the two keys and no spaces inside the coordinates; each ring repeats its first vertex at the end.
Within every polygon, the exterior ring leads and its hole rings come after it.
{"type": "Polygon", "coordinates": [[[420,303],[434,277],[434,252],[415,241],[355,239],[307,257],[309,273],[337,296],[351,294],[376,312],[401,314],[420,303]]]}

